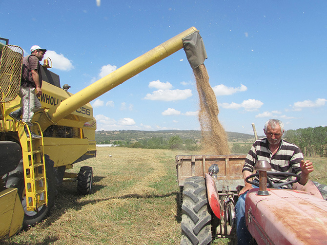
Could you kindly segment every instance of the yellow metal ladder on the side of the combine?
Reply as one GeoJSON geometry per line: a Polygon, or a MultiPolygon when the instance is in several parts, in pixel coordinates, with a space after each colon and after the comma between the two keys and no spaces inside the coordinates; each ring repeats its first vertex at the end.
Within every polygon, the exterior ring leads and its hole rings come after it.
{"type": "MultiPolygon", "coordinates": [[[[37,211],[48,203],[43,134],[40,125],[35,124],[37,127],[34,128],[38,128],[38,133],[41,135],[40,139],[27,138],[24,123],[20,122],[19,127],[20,144],[23,152],[27,211],[37,211]]],[[[31,135],[29,127],[26,128],[29,135],[31,135]]]]}

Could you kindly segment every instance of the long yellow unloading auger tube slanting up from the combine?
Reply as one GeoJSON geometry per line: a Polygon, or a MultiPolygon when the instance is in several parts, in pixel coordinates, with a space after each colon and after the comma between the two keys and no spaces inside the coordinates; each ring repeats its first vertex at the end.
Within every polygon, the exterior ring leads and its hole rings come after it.
{"type": "Polygon", "coordinates": [[[75,110],[79,109],[86,103],[89,103],[93,99],[122,84],[127,79],[139,74],[143,70],[156,64],[160,60],[172,55],[183,47],[186,52],[187,59],[191,64],[191,67],[194,69],[194,66],[197,66],[194,65],[194,57],[197,57],[196,53],[198,51],[194,50],[191,47],[196,46],[201,46],[200,49],[195,49],[200,50],[200,52],[202,52],[198,55],[201,61],[196,62],[203,63],[204,59],[206,58],[203,41],[199,35],[199,31],[195,27],[191,27],[180,33],[179,35],[175,36],[174,38],[163,42],[162,44],[148,51],[142,56],[130,61],[129,63],[125,64],[124,66],[120,67],[109,75],[106,75],[105,77],[99,79],[98,81],[84,88],[80,92],[63,100],[58,106],[50,108],[46,113],[42,113],[41,117],[38,120],[42,131],[44,131],[50,125],[55,124],[70,113],[74,112],[75,110]],[[196,38],[192,36],[195,36],[196,38]],[[199,43],[200,45],[198,45],[199,43]]]}

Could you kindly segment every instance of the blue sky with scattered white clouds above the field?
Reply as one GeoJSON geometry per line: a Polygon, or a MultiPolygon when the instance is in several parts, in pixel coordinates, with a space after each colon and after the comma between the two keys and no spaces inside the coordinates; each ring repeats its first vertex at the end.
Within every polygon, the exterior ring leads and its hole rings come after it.
{"type": "MultiPolygon", "coordinates": [[[[262,134],[269,118],[326,126],[326,13],[324,0],[0,0],[0,37],[46,48],[76,93],[194,26],[225,130],[262,134]]],[[[199,130],[198,101],[180,50],[91,104],[97,130],[199,130]]]]}

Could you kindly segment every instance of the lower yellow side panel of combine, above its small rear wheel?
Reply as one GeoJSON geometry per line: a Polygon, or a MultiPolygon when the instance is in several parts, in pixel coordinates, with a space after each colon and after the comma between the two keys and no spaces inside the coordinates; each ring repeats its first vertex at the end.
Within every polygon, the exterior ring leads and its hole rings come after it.
{"type": "Polygon", "coordinates": [[[55,162],[55,167],[72,164],[87,152],[88,139],[44,137],[44,152],[55,162]]]}

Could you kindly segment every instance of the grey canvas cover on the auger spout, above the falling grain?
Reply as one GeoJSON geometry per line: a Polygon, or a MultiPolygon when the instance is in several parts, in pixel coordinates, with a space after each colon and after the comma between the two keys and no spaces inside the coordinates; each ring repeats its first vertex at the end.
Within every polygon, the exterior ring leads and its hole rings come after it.
{"type": "Polygon", "coordinates": [[[199,31],[197,31],[186,36],[182,40],[187,60],[194,70],[199,65],[203,64],[204,60],[207,58],[203,39],[199,31]]]}

